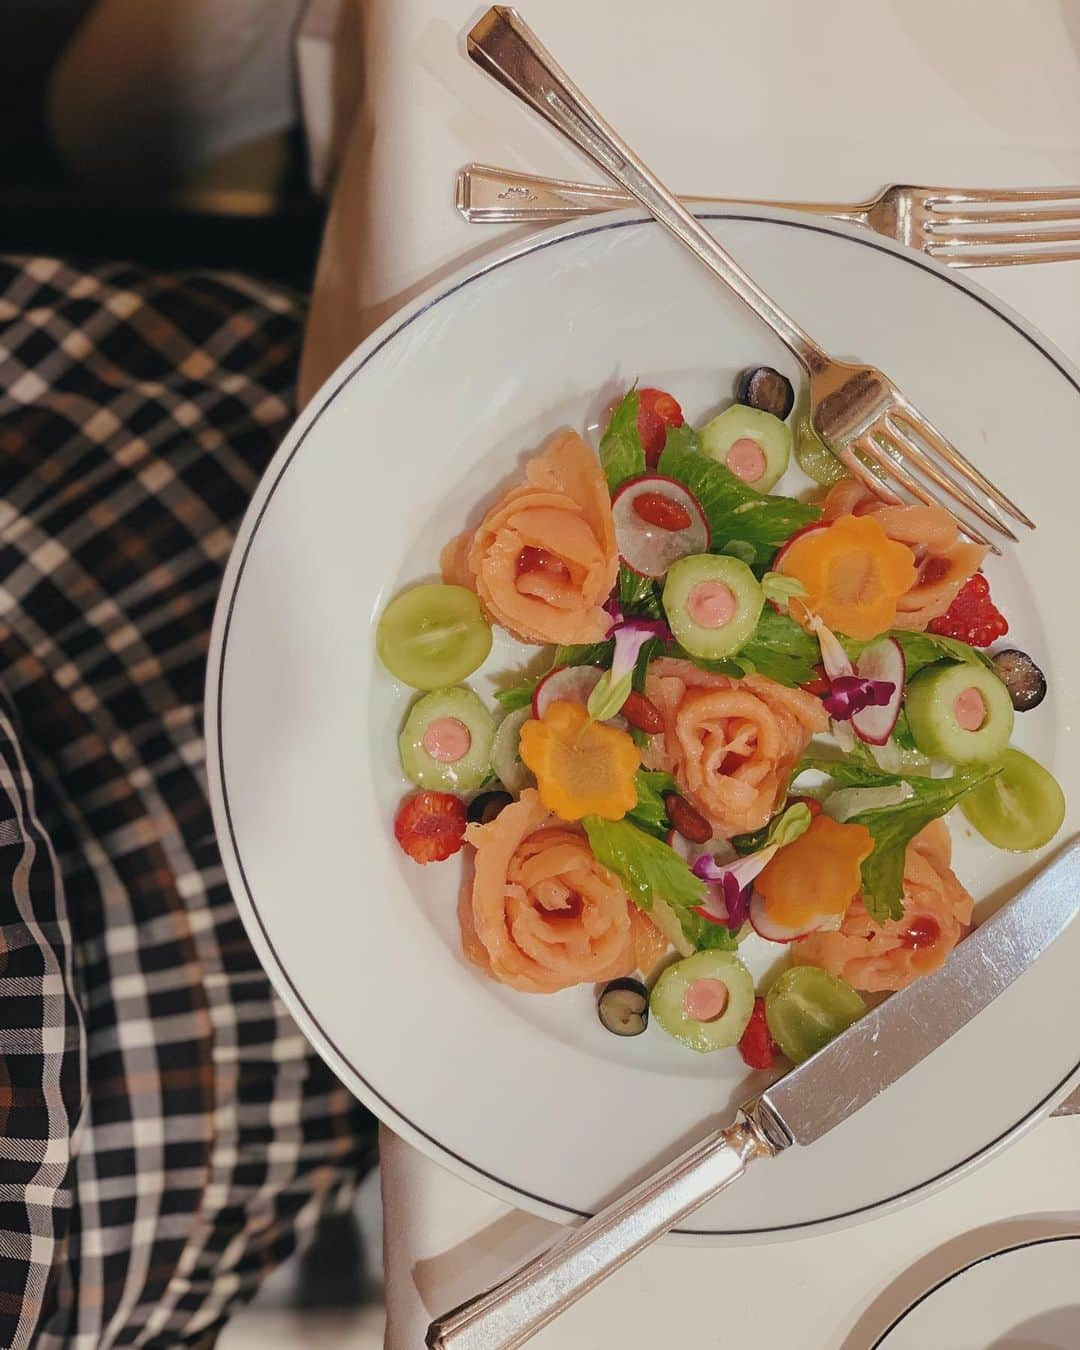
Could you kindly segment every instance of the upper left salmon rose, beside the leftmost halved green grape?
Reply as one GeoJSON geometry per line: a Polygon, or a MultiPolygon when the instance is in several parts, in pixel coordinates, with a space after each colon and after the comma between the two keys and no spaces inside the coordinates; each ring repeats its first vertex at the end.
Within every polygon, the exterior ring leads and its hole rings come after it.
{"type": "Polygon", "coordinates": [[[446,582],[474,590],[525,643],[602,641],[618,549],[594,451],[572,431],[556,436],[479,529],[447,544],[441,568],[446,582]]]}

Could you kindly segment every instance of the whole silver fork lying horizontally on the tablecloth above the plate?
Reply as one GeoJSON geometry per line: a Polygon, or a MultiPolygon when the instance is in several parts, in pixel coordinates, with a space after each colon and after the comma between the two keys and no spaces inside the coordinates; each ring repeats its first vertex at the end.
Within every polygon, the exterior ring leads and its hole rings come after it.
{"type": "MultiPolygon", "coordinates": [[[[911,188],[894,184],[869,201],[852,202],[695,196],[679,200],[695,207],[780,207],[848,220],[950,267],[1080,259],[1080,188],[911,188]]],[[[543,178],[477,163],[458,173],[458,211],[471,224],[551,224],[633,204],[629,193],[591,182],[543,178]]]]}

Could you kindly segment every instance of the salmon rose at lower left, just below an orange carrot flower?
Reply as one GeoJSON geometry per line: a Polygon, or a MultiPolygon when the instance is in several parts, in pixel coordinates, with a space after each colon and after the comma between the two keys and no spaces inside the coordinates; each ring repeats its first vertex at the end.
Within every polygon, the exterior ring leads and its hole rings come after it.
{"type": "MultiPolygon", "coordinates": [[[[486,975],[524,994],[612,980],[636,965],[629,900],[618,879],[533,788],[487,825],[470,825],[473,886],[462,894],[462,948],[486,975]]],[[[640,937],[639,937],[640,941],[640,937]]]]}

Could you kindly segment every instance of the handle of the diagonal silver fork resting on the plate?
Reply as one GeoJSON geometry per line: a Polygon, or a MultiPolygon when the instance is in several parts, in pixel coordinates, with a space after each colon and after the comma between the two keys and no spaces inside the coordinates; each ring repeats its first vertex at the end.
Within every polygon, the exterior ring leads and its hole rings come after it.
{"type": "Polygon", "coordinates": [[[828,367],[829,358],[822,348],[761,290],[705,225],[639,159],[586,100],[516,9],[509,5],[489,9],[468,34],[467,49],[477,65],[562,131],[697,254],[790,347],[809,374],[828,367]]]}

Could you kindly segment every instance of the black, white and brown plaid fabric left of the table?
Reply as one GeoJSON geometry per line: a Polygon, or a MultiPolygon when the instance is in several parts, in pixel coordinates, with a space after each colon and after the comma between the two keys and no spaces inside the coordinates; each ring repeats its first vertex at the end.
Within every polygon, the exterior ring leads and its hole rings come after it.
{"type": "Polygon", "coordinates": [[[212,1345],[371,1161],[205,791],[213,602],[301,319],[236,277],[0,261],[4,1346],[212,1345]]]}

